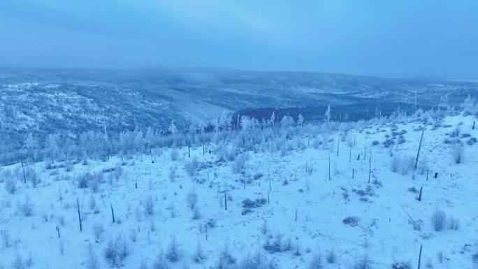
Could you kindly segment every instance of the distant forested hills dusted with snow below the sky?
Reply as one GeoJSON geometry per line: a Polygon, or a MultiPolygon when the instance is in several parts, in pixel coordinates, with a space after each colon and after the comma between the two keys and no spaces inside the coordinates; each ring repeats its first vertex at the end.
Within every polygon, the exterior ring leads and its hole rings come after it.
{"type": "MultiPolygon", "coordinates": [[[[222,68],[144,70],[2,69],[0,136],[52,131],[166,128],[208,121],[226,112],[308,109],[317,117],[331,105],[379,109],[391,103],[451,105],[476,94],[478,82],[452,82],[311,72],[222,68]],[[376,104],[376,105],[375,105],[376,104]],[[313,109],[312,109],[313,108],[313,109]]],[[[299,111],[297,110],[297,111],[299,111]]],[[[372,109],[370,109],[372,110],[372,109]]],[[[307,117],[306,117],[307,119],[307,117]]]]}

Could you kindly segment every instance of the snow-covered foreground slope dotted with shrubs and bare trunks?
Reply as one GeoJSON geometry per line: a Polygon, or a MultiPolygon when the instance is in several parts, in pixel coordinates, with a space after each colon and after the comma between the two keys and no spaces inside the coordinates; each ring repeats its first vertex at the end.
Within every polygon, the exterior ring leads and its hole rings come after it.
{"type": "Polygon", "coordinates": [[[0,268],[404,269],[419,266],[421,247],[421,268],[476,268],[475,119],[335,123],[328,136],[296,127],[280,150],[257,138],[234,161],[219,161],[211,144],[191,157],[187,147],[157,148],[154,162],[137,152],[29,163],[36,186],[24,184],[20,163],[5,166],[0,268]]]}

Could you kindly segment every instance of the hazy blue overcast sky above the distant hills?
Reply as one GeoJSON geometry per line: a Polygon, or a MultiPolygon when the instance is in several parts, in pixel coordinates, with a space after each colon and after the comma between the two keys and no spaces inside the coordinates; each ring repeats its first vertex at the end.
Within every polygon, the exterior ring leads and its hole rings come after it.
{"type": "Polygon", "coordinates": [[[478,78],[477,0],[2,0],[0,66],[478,78]]]}

